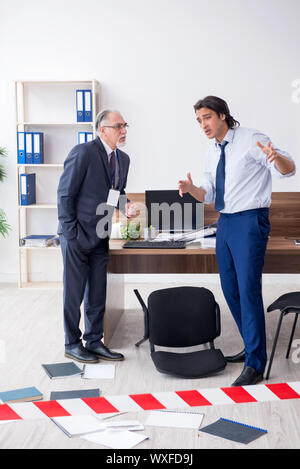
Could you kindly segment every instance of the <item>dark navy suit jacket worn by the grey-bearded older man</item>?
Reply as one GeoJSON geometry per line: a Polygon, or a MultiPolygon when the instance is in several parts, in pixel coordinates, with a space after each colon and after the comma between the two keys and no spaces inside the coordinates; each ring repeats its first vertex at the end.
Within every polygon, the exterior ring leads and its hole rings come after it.
{"type": "MultiPolygon", "coordinates": [[[[117,150],[119,180],[116,189],[125,196],[129,169],[129,156],[117,150]]],[[[99,204],[107,201],[111,188],[108,157],[99,137],[91,142],[76,145],[64,163],[57,199],[58,234],[67,239],[77,239],[86,249],[99,243],[96,226],[105,216],[96,215],[99,204]]],[[[113,210],[108,207],[108,211],[113,210]]]]}

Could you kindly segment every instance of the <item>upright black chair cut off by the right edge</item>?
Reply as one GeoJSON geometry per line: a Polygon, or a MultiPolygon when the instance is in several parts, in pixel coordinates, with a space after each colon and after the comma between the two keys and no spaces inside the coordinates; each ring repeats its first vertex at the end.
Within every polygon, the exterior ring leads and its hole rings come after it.
{"type": "Polygon", "coordinates": [[[284,316],[286,316],[289,313],[295,313],[295,319],[294,319],[294,323],[293,323],[293,326],[292,326],[289,345],[288,345],[286,356],[285,356],[285,358],[289,358],[291,345],[292,345],[292,342],[293,342],[295,329],[296,329],[296,324],[297,324],[297,320],[298,320],[298,314],[300,313],[300,292],[297,291],[297,292],[285,293],[284,295],[281,295],[279,298],[277,298],[276,301],[274,301],[267,308],[267,312],[269,313],[270,311],[274,311],[274,310],[277,310],[277,309],[280,310],[281,313],[280,313],[278,324],[277,324],[277,330],[276,330],[276,334],[275,334],[275,338],[274,338],[274,342],[273,342],[273,347],[272,347],[272,352],[271,352],[270,361],[269,361],[269,365],[268,365],[268,371],[267,371],[267,374],[266,374],[266,379],[268,379],[269,376],[270,376],[270,371],[271,371],[271,367],[272,367],[272,363],[273,363],[273,358],[274,358],[274,354],[275,354],[275,349],[276,349],[276,345],[277,345],[277,341],[278,341],[278,336],[279,336],[279,332],[280,332],[280,328],[281,328],[282,319],[284,318],[284,316]]]}

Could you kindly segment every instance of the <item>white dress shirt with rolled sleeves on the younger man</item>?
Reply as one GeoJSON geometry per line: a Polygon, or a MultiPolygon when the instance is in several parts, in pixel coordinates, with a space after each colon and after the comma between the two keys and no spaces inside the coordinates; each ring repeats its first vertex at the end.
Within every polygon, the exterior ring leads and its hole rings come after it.
{"type": "MultiPolygon", "coordinates": [[[[224,141],[227,141],[228,144],[225,147],[225,206],[221,213],[235,213],[269,207],[272,175],[279,178],[293,176],[296,172],[296,166],[293,172],[281,174],[276,164],[270,163],[265,153],[256,145],[257,141],[263,145],[270,141],[266,135],[258,130],[247,127],[229,129],[224,141]]],[[[275,146],[274,148],[281,155],[294,161],[286,151],[275,146]]],[[[204,200],[207,204],[215,201],[216,169],[220,153],[219,142],[214,139],[205,160],[203,179],[200,184],[207,192],[204,200]]]]}

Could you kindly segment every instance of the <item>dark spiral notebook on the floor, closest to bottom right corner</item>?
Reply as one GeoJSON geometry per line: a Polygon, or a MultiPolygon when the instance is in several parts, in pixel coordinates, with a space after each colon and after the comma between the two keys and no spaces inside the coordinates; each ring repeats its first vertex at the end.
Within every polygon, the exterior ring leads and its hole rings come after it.
{"type": "Polygon", "coordinates": [[[210,435],[219,436],[237,443],[247,444],[265,435],[267,430],[220,418],[216,422],[201,428],[200,432],[209,433],[210,435]]]}

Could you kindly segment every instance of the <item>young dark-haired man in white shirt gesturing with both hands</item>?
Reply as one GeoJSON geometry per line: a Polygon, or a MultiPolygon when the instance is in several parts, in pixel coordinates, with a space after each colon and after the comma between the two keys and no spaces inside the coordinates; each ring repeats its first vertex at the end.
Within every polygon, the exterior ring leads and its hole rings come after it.
{"type": "Polygon", "coordinates": [[[199,100],[195,113],[212,140],[200,187],[191,174],[178,183],[180,194],[211,204],[220,212],[216,255],[222,290],[245,349],[231,362],[245,362],[232,386],[263,379],[267,361],[261,275],[270,231],[272,175],[295,174],[292,157],[257,130],[240,127],[227,103],[216,96],[199,100]]]}

